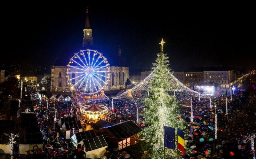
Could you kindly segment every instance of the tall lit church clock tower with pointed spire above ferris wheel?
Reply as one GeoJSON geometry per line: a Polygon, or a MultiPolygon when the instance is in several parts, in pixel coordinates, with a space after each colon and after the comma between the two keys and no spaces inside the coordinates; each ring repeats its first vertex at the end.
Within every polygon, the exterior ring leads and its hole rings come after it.
{"type": "Polygon", "coordinates": [[[85,27],[84,27],[83,47],[88,48],[92,45],[93,45],[92,29],[90,26],[90,21],[89,21],[89,17],[88,17],[88,8],[87,8],[86,9],[85,27]]]}

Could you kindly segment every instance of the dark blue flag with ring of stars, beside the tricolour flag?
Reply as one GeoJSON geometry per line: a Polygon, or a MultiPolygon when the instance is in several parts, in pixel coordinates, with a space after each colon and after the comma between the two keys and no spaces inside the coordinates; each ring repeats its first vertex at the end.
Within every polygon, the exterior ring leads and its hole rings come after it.
{"type": "Polygon", "coordinates": [[[164,126],[164,147],[175,150],[175,128],[164,126]]]}

